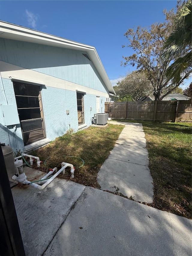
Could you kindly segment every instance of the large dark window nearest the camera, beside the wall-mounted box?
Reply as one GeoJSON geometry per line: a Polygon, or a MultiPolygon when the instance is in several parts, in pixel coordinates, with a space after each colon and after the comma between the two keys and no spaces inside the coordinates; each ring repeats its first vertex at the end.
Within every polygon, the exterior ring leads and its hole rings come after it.
{"type": "Polygon", "coordinates": [[[13,82],[13,87],[25,146],[44,139],[41,87],[19,82],[13,82]]]}

